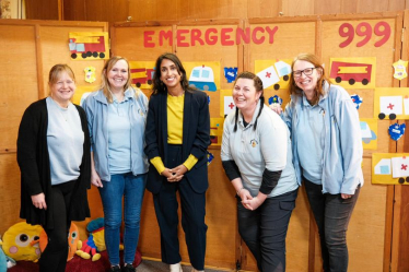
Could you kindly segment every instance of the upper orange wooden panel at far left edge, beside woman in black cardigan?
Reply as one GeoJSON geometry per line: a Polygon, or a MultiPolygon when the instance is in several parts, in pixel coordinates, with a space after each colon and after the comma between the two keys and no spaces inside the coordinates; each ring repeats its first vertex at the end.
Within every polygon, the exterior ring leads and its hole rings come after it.
{"type": "Polygon", "coordinates": [[[38,95],[35,27],[0,24],[0,86],[3,90],[0,97],[0,150],[4,152],[15,151],[21,117],[38,95]],[[23,79],[25,84],[22,84],[23,79]]]}

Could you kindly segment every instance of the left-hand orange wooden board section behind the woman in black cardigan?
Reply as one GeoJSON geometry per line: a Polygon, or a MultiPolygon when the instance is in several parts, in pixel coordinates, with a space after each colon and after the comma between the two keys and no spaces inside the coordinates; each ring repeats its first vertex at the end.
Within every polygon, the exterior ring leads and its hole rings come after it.
{"type": "MultiPolygon", "coordinates": [[[[69,64],[77,86],[97,88],[103,60],[72,61],[69,50],[70,32],[107,32],[107,23],[0,20],[0,191],[2,220],[0,234],[20,221],[20,169],[16,163],[16,137],[24,110],[30,104],[48,95],[48,72],[56,63],[69,64]],[[84,81],[84,68],[96,68],[97,80],[84,81]],[[13,211],[13,212],[7,212],[13,211]]],[[[92,216],[102,216],[96,189],[89,191],[92,216]]],[[[86,222],[78,224],[81,237],[86,237],[86,222]]]]}

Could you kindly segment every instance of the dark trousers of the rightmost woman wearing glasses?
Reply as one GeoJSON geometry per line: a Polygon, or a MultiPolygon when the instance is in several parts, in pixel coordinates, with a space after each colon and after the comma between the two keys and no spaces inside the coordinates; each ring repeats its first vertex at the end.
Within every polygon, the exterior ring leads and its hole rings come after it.
{"type": "Polygon", "coordinates": [[[304,179],[311,210],[317,223],[325,272],[348,271],[347,229],[361,187],[349,199],[323,193],[323,186],[304,179]]]}

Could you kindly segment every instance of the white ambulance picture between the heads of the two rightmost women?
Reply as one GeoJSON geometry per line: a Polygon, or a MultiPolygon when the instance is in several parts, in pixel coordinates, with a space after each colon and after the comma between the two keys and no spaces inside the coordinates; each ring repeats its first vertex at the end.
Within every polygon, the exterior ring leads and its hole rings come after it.
{"type": "Polygon", "coordinates": [[[256,60],[255,71],[262,81],[262,87],[287,88],[291,75],[291,59],[282,60],[256,60]]]}

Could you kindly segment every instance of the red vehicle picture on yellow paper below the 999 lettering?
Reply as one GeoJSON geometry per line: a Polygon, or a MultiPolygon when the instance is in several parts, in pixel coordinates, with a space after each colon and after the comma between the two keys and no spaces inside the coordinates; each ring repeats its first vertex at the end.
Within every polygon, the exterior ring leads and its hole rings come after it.
{"type": "Polygon", "coordinates": [[[374,88],[376,58],[331,58],[329,78],[346,88],[374,88]]]}

